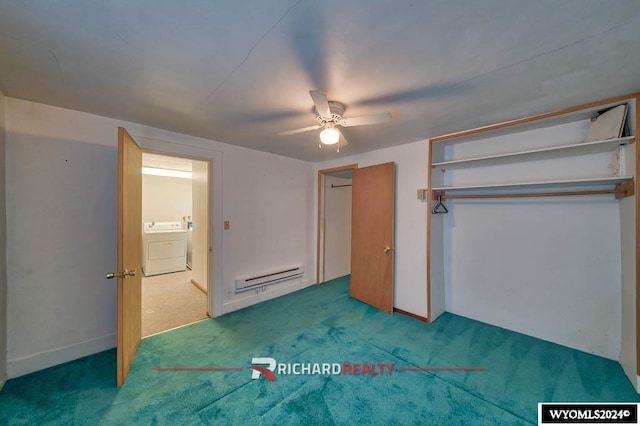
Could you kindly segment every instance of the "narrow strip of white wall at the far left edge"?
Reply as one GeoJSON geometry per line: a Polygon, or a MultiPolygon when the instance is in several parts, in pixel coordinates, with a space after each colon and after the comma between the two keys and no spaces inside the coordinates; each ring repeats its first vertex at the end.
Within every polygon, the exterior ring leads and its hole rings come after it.
{"type": "Polygon", "coordinates": [[[7,376],[7,228],[5,202],[5,96],[0,92],[0,389],[7,376]]]}

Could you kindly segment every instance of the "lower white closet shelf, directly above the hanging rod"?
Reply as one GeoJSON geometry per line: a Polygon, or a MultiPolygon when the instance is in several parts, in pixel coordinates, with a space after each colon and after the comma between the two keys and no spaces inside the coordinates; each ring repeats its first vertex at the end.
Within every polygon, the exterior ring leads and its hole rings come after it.
{"type": "Polygon", "coordinates": [[[487,190],[543,190],[554,188],[581,188],[598,187],[614,189],[616,185],[624,184],[633,179],[633,176],[612,176],[592,179],[567,179],[547,182],[523,182],[523,183],[499,183],[492,185],[472,185],[472,186],[442,186],[431,188],[432,191],[444,192],[446,194],[475,193],[487,190]]]}

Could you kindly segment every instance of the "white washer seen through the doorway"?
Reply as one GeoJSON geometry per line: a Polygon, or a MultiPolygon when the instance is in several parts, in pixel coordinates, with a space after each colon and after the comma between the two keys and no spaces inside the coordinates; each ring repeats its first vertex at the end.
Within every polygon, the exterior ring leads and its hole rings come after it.
{"type": "Polygon", "coordinates": [[[187,269],[187,231],[180,222],[146,222],[142,233],[145,276],[187,269]]]}

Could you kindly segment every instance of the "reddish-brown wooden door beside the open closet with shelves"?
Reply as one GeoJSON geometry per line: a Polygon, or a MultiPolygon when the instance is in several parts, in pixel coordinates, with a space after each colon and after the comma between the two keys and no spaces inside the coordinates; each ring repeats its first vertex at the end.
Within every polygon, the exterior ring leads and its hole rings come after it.
{"type": "Polygon", "coordinates": [[[353,170],[351,296],[393,311],[395,163],[353,170]]]}

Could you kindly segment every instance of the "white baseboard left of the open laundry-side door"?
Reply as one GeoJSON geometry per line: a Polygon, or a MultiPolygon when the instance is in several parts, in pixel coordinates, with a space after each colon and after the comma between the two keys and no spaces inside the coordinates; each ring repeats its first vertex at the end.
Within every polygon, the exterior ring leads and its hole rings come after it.
{"type": "Polygon", "coordinates": [[[60,348],[49,349],[7,361],[7,377],[15,378],[82,358],[116,346],[116,335],[97,337],[60,348]]]}

